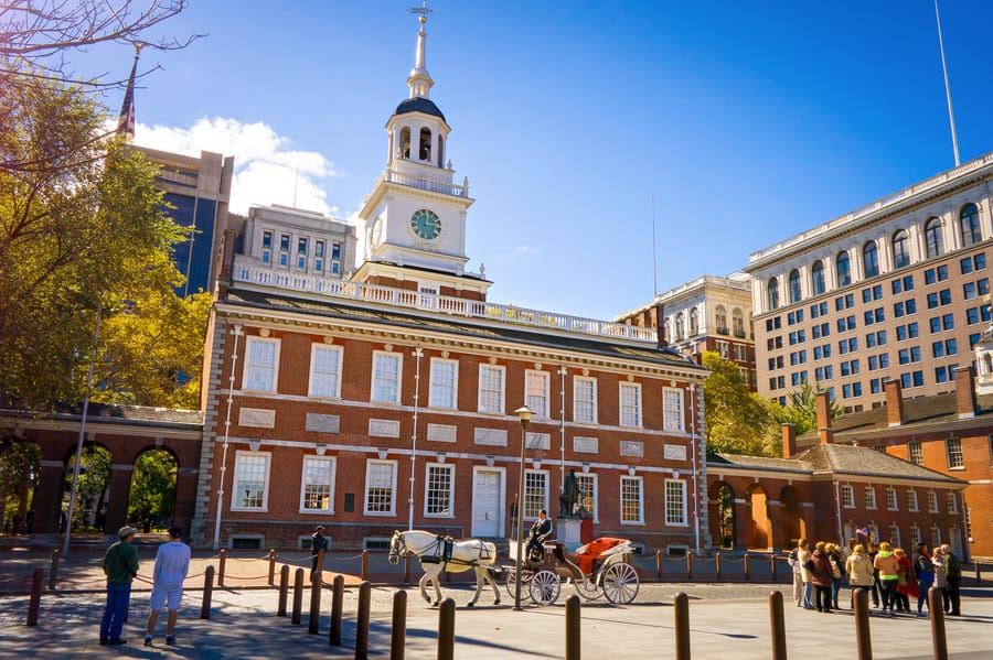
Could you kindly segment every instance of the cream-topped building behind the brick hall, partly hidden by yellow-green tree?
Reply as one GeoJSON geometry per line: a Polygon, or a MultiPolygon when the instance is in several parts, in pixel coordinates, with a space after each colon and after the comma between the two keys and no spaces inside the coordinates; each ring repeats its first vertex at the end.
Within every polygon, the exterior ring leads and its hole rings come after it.
{"type": "Polygon", "coordinates": [[[624,312],[615,321],[658,328],[660,310],[669,346],[697,363],[704,350],[720,354],[738,365],[748,387],[756,390],[751,283],[747,274],[702,275],[656,294],[651,303],[624,312]]]}

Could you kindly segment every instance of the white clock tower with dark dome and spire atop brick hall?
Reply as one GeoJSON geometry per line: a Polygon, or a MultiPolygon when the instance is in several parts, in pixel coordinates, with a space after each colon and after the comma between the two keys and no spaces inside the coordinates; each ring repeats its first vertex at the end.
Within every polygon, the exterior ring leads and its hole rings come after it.
{"type": "Polygon", "coordinates": [[[359,212],[365,229],[365,261],[353,281],[485,300],[490,282],[467,273],[466,216],[474,199],[469,181],[453,181],[448,160],[451,128],[429,98],[434,85],[425,64],[426,15],[419,13],[409,96],[386,122],[386,170],[359,212]]]}

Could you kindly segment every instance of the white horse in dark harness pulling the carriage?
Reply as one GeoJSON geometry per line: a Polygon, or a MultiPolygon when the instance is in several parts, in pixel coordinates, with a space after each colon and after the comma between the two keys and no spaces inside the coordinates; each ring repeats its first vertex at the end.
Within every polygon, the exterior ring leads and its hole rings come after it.
{"type": "Polygon", "coordinates": [[[418,586],[420,595],[428,603],[431,599],[427,594],[427,583],[430,580],[435,585],[437,599],[435,605],[441,603],[441,585],[438,575],[441,571],[460,573],[472,569],[476,571],[476,595],[469,601],[469,607],[476,605],[483,586],[489,582],[493,586],[495,596],[494,605],[500,605],[500,588],[493,577],[493,564],[496,562],[496,547],[489,541],[470,539],[468,541],[453,541],[431,532],[410,530],[396,531],[389,541],[389,563],[399,563],[399,558],[413,554],[420,560],[424,577],[418,586]]]}

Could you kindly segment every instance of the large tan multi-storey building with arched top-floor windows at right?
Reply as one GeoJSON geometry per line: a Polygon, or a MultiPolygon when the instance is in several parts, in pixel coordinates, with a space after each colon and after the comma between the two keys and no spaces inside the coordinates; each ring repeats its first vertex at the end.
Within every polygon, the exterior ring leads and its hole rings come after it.
{"type": "Polygon", "coordinates": [[[953,389],[990,322],[993,154],[752,253],[758,392],[846,411],[953,389]]]}

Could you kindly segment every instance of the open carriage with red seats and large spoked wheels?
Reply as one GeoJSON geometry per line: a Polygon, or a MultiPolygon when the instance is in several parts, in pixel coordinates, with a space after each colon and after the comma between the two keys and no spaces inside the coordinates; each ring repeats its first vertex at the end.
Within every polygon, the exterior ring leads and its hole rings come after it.
{"type": "MultiPolygon", "coordinates": [[[[632,548],[626,539],[596,539],[570,555],[557,541],[543,543],[541,556],[525,556],[521,562],[521,589],[536,605],[552,605],[562,593],[562,582],[572,583],[584,598],[595,601],[602,594],[609,602],[627,605],[638,595],[638,572],[629,563],[632,548]]],[[[517,544],[511,542],[510,558],[515,563],[504,566],[506,593],[517,588],[517,544]]]]}

